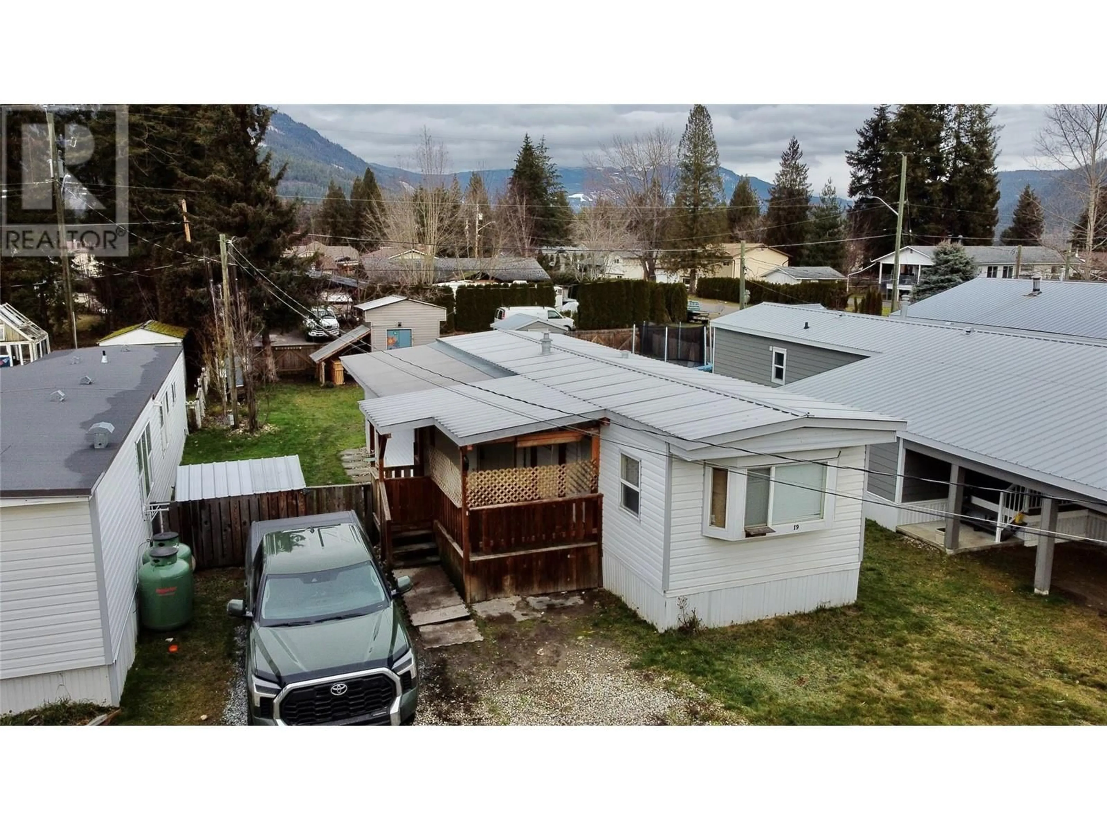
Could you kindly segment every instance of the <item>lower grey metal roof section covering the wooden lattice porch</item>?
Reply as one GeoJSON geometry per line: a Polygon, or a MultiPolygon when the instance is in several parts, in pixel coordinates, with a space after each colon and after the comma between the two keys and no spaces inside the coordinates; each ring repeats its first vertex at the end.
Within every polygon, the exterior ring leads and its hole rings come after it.
{"type": "Polygon", "coordinates": [[[526,435],[546,427],[582,424],[602,408],[527,377],[495,377],[472,384],[362,401],[361,411],[382,433],[436,426],[455,444],[526,435]]]}

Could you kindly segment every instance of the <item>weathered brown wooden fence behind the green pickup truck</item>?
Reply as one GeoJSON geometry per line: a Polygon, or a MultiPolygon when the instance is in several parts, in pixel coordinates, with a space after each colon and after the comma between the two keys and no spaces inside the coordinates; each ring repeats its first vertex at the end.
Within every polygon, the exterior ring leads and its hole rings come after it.
{"type": "Polygon", "coordinates": [[[166,513],[168,529],[193,549],[196,567],[241,568],[250,525],[340,510],[353,510],[366,531],[373,526],[371,485],[307,487],[282,492],[257,492],[197,501],[174,501],[166,513]]]}

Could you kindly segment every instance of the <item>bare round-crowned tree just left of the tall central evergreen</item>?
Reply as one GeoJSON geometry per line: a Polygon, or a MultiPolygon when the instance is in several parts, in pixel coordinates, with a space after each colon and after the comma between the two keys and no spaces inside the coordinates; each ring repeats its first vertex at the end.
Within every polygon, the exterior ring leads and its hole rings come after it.
{"type": "Polygon", "coordinates": [[[603,194],[625,211],[645,278],[656,280],[676,184],[675,135],[659,126],[630,138],[615,136],[599,154],[586,156],[586,163],[593,168],[603,194]]]}

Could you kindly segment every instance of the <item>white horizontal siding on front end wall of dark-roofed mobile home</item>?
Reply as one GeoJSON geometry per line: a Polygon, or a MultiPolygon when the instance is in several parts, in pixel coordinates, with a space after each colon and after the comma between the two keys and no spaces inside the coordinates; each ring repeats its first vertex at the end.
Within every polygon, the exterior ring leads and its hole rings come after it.
{"type": "Polygon", "coordinates": [[[0,508],[0,631],[4,678],[104,663],[87,500],[0,508]]]}

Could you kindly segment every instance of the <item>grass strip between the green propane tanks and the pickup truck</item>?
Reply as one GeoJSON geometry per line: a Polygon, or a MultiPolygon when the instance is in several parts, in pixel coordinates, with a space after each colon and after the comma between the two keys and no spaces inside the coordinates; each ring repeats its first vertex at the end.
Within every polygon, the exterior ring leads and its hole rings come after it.
{"type": "Polygon", "coordinates": [[[220,568],[196,574],[193,621],[179,631],[138,634],[113,724],[218,725],[235,663],[236,619],[227,600],[242,594],[242,570],[220,568]],[[173,637],[177,646],[169,652],[173,637]],[[206,720],[200,720],[207,715],[206,720]]]}

